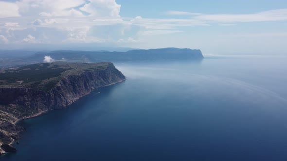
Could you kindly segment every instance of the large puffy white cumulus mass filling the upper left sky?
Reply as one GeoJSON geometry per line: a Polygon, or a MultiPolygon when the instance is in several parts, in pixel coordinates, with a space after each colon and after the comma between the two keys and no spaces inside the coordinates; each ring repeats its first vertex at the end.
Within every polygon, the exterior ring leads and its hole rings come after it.
{"type": "MultiPolygon", "coordinates": [[[[117,4],[115,0],[16,0],[16,2],[0,2],[0,29],[6,31],[5,34],[3,32],[0,34],[9,37],[11,43],[115,42],[118,38],[98,37],[97,34],[101,34],[106,29],[90,32],[90,28],[126,24],[119,15],[120,8],[121,5],[117,4]],[[12,5],[16,9],[4,16],[4,8],[11,9],[13,8],[12,5]],[[2,7],[3,9],[1,9],[2,7]],[[1,17],[9,16],[21,17],[13,17],[9,21],[1,19],[1,17]],[[27,33],[29,33],[28,36],[27,33]]],[[[121,26],[113,30],[123,31],[123,28],[126,27],[121,26]]]]}

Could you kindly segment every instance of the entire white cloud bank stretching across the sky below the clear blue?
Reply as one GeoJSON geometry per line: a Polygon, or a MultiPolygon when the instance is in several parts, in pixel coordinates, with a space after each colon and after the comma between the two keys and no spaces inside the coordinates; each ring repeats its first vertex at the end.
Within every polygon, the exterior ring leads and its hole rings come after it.
{"type": "MultiPolygon", "coordinates": [[[[161,18],[142,15],[122,17],[121,4],[116,0],[0,0],[0,11],[0,44],[7,46],[91,43],[99,46],[135,45],[136,48],[142,48],[141,45],[155,44],[153,41],[167,41],[167,37],[160,39],[165,35],[178,35],[178,40],[183,39],[185,32],[196,35],[193,30],[198,27],[208,27],[206,31],[210,31],[214,26],[226,29],[236,28],[242,23],[287,21],[287,9],[250,14],[205,14],[172,10],[161,18]]],[[[196,39],[195,35],[187,37],[196,39]]],[[[184,41],[192,42],[190,39],[184,41]]],[[[212,37],[206,39],[211,40],[212,37]]],[[[194,42],[199,43],[198,39],[194,42]]],[[[170,45],[161,44],[161,47],[170,45]]]]}

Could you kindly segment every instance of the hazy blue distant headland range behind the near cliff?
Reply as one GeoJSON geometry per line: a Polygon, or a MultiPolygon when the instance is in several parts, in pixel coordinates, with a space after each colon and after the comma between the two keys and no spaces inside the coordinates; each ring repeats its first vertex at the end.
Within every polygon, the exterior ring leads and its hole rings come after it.
{"type": "MultiPolygon", "coordinates": [[[[13,51],[15,52],[21,51],[13,51]]],[[[23,51],[24,52],[24,51],[23,51]]],[[[177,60],[202,60],[203,55],[199,49],[189,48],[158,48],[158,49],[133,49],[129,51],[76,51],[57,50],[40,51],[35,54],[24,52],[25,56],[18,58],[2,58],[0,67],[14,67],[25,64],[42,63],[45,56],[50,56],[55,62],[132,62],[132,61],[177,61],[177,60]],[[28,55],[30,54],[30,55],[28,55]],[[28,55],[28,56],[27,56],[28,55]]],[[[23,53],[23,55],[24,55],[23,53]]],[[[5,55],[9,55],[5,51],[5,55]]],[[[20,55],[20,53],[17,53],[20,55]]]]}

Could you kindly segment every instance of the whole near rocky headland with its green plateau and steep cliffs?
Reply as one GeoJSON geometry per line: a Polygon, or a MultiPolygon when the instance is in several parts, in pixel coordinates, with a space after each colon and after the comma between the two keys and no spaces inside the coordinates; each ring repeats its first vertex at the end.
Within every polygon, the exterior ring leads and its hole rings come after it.
{"type": "Polygon", "coordinates": [[[17,140],[19,132],[23,131],[16,124],[18,120],[66,108],[97,88],[125,80],[125,76],[112,63],[51,63],[44,64],[45,67],[43,64],[36,67],[33,65],[0,73],[0,79],[1,75],[10,74],[9,80],[3,76],[0,80],[0,153],[16,150],[9,144],[17,140]],[[21,75],[29,70],[33,73],[41,70],[43,75],[51,75],[51,70],[57,73],[53,73],[56,76],[53,78],[38,78],[29,73],[23,79],[25,76],[21,75]],[[14,75],[11,76],[11,73],[14,75]]]}

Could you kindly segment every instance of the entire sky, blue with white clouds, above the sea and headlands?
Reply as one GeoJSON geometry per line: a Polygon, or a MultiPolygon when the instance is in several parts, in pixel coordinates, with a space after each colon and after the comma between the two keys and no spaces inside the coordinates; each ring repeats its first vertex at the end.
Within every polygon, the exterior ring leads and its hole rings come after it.
{"type": "Polygon", "coordinates": [[[287,0],[0,0],[2,49],[287,55],[286,42],[287,0]]]}

